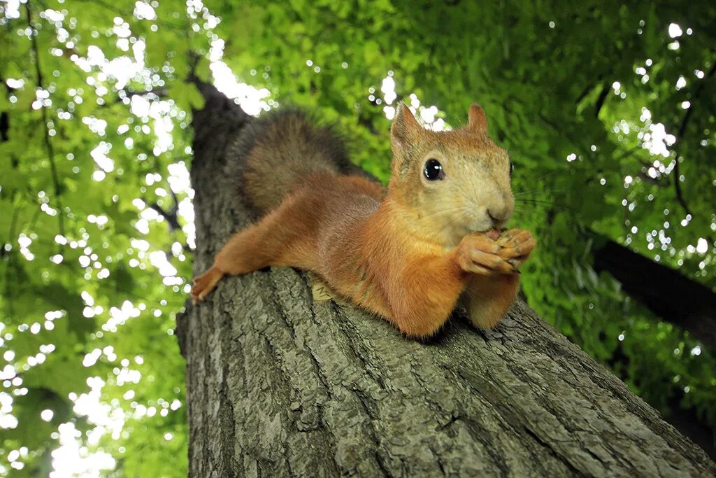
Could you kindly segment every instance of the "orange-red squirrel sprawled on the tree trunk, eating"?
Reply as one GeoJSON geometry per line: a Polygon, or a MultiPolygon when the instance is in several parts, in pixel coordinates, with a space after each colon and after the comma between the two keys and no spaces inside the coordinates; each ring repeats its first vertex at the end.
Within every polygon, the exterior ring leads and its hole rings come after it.
{"type": "Polygon", "coordinates": [[[478,105],[467,125],[435,132],[400,103],[390,140],[386,190],[356,175],[339,137],[300,111],[248,125],[243,183],[264,215],[194,279],[194,303],[225,275],[291,266],[410,338],[434,335],[458,305],[476,327],[495,327],[536,246],[528,231],[504,229],[514,209],[508,153],[488,138],[478,105]]]}

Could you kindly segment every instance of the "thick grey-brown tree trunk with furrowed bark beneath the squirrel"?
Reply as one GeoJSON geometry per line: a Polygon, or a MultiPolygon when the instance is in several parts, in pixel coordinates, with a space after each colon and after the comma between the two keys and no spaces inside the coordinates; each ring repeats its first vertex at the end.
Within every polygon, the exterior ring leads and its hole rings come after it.
{"type": "MultiPolygon", "coordinates": [[[[195,272],[248,214],[221,171],[250,118],[208,85],[194,115],[195,272]]],[[[191,477],[713,476],[716,464],[518,302],[493,332],[430,343],[306,274],[223,279],[178,317],[191,477]]]]}

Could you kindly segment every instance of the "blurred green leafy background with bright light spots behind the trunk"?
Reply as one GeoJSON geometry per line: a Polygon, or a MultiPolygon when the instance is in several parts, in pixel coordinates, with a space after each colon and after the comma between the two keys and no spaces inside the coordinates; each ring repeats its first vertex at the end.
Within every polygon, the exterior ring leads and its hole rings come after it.
{"type": "Polygon", "coordinates": [[[710,2],[3,0],[0,476],[186,474],[191,70],[382,181],[398,101],[483,105],[528,302],[715,456],[710,2]]]}

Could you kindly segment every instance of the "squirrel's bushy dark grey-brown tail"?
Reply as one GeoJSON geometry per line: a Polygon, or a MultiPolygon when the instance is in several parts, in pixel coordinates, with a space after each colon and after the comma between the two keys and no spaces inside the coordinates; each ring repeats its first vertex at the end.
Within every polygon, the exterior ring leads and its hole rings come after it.
{"type": "Polygon", "coordinates": [[[281,204],[301,177],[345,173],[352,168],[342,138],[294,109],[253,120],[231,149],[233,161],[228,161],[227,174],[243,179],[246,197],[261,214],[281,204]]]}

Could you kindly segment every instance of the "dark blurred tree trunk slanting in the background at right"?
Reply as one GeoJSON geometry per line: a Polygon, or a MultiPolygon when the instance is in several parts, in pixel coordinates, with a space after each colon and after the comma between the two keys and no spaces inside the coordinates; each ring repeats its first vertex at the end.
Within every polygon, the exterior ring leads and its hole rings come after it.
{"type": "Polygon", "coordinates": [[[624,292],[716,352],[716,294],[708,287],[614,241],[596,249],[594,269],[612,274],[624,292]]]}

